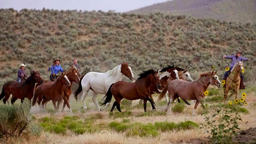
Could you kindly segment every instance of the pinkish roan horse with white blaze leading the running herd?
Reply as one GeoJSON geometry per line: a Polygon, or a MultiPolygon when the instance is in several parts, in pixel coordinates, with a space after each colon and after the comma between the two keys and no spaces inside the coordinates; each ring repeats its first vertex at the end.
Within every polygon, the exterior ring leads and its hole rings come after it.
{"type": "Polygon", "coordinates": [[[167,86],[158,96],[158,101],[161,100],[164,97],[165,93],[168,91],[170,100],[168,102],[166,112],[168,112],[168,109],[170,108],[170,113],[172,113],[171,102],[173,102],[173,100],[175,100],[176,98],[180,97],[184,100],[196,100],[196,104],[192,113],[194,115],[199,102],[205,108],[203,98],[204,92],[206,91],[208,86],[210,84],[213,84],[220,87],[221,83],[216,74],[217,71],[204,72],[199,75],[200,78],[198,80],[194,80],[193,82],[188,82],[180,79],[172,80],[167,84],[167,86]]]}

